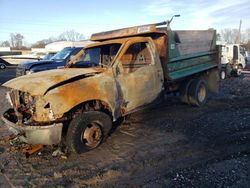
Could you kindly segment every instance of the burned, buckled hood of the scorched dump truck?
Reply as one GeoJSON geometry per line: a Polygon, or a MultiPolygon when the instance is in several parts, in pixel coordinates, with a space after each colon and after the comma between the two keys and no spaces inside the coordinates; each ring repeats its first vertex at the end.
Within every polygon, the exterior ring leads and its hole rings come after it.
{"type": "Polygon", "coordinates": [[[14,78],[3,84],[4,87],[28,92],[29,94],[44,95],[49,89],[63,85],[69,81],[83,79],[102,72],[103,69],[56,69],[14,78]]]}

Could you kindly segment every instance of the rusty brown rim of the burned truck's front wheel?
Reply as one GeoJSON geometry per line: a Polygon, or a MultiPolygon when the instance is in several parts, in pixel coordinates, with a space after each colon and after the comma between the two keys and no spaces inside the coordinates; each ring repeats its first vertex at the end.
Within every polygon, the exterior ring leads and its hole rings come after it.
{"type": "Polygon", "coordinates": [[[82,143],[88,147],[95,148],[102,141],[102,130],[96,123],[91,123],[82,132],[81,136],[82,143]]]}

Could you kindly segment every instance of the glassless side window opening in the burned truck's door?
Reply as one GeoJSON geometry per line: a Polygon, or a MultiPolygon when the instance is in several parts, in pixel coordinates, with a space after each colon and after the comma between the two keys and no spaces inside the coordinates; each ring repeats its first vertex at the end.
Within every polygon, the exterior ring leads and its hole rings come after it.
{"type": "Polygon", "coordinates": [[[146,42],[132,44],[121,57],[121,63],[126,73],[152,64],[152,55],[146,42]]]}

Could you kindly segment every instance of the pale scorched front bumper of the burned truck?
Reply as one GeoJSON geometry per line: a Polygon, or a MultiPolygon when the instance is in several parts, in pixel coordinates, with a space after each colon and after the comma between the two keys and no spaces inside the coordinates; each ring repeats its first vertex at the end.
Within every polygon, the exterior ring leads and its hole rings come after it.
{"type": "Polygon", "coordinates": [[[20,140],[28,144],[53,145],[59,144],[62,137],[62,123],[47,126],[17,125],[2,116],[2,120],[9,130],[20,136],[20,140]]]}

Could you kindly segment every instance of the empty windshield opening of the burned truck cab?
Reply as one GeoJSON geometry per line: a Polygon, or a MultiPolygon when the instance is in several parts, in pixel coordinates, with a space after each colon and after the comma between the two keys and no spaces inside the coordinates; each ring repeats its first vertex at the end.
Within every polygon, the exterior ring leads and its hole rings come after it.
{"type": "Polygon", "coordinates": [[[103,46],[97,46],[88,48],[84,51],[84,54],[80,56],[71,67],[86,68],[96,66],[107,66],[115,58],[118,53],[121,44],[107,44],[103,46]]]}

